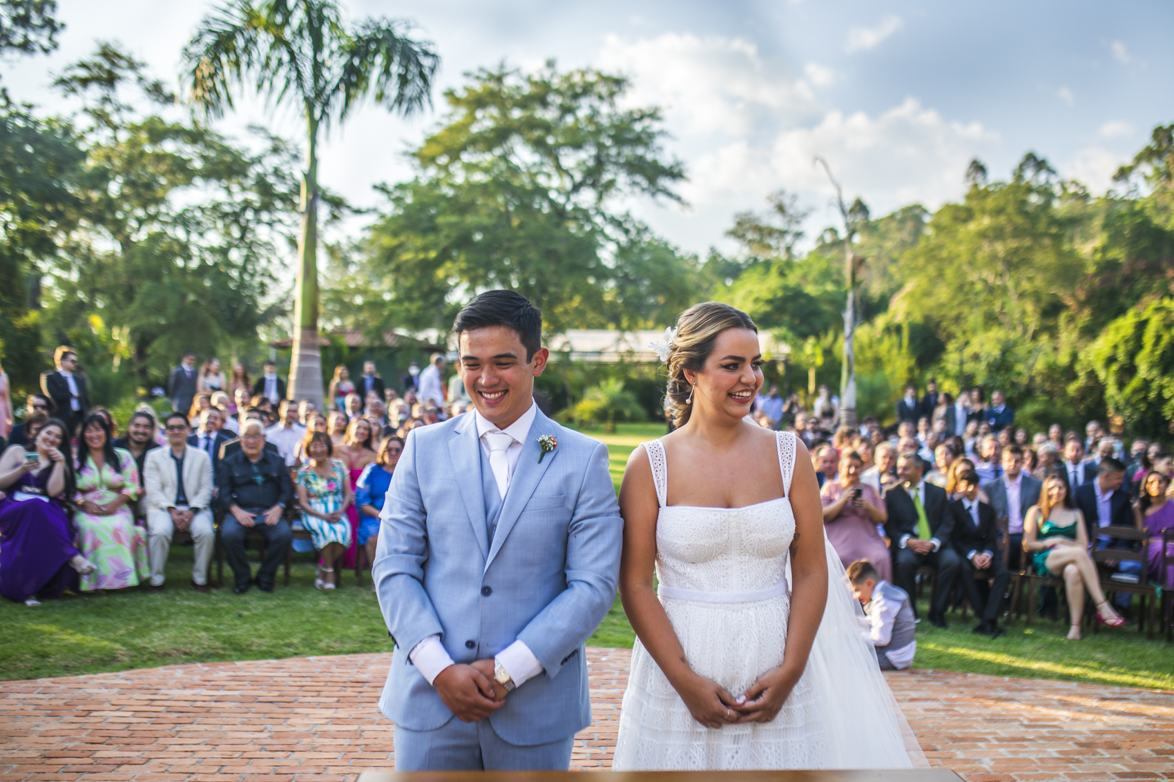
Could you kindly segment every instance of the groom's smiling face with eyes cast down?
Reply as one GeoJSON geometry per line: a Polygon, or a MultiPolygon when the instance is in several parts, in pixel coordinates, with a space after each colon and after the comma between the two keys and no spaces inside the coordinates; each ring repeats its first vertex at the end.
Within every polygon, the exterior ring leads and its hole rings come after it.
{"type": "Polygon", "coordinates": [[[459,372],[477,411],[498,429],[505,429],[529,410],[534,378],[546,369],[549,351],[539,348],[526,356],[518,332],[508,326],[461,331],[459,372]]]}

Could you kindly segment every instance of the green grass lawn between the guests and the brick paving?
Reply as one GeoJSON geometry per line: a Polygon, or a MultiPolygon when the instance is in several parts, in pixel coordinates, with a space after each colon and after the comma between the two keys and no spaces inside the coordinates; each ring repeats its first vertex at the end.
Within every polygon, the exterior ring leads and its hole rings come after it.
{"type": "MultiPolygon", "coordinates": [[[[655,424],[621,424],[612,436],[592,432],[610,449],[619,486],[628,453],[664,432],[655,424]]],[[[197,594],[187,587],[191,548],[176,546],[168,565],[169,587],[106,596],[69,595],[36,608],[0,601],[0,679],[67,676],[178,662],[391,652],[375,593],[357,588],[353,572],[333,593],[313,588],[312,555],[297,554],[289,587],[272,594],[231,589],[197,594]]],[[[225,575],[229,572],[225,567],[225,575]]],[[[278,581],[279,584],[279,581],[278,581]]],[[[927,607],[923,606],[925,615],[927,607]]],[[[1174,647],[1147,641],[1131,626],[1064,640],[1065,622],[1013,625],[998,640],[970,632],[958,614],[939,631],[918,629],[918,668],[1001,676],[1087,681],[1122,687],[1174,689],[1174,647]]],[[[632,627],[619,601],[588,641],[630,647],[632,627]]]]}

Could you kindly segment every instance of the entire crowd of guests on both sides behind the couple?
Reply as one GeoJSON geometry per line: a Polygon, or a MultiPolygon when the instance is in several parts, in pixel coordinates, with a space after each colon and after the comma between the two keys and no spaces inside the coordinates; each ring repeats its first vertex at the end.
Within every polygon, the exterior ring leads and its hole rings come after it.
{"type": "MultiPolygon", "coordinates": [[[[405,373],[402,385],[385,384],[372,363],[355,379],[336,368],[329,409],[318,411],[284,398],[272,363],[251,382],[242,364],[222,373],[214,359],[196,369],[196,357],[184,356],[169,382],[176,412],[160,422],[142,404],[120,434],[120,422],[90,405],[76,355],[59,349],[54,364],[43,391],[14,412],[0,451],[0,593],[29,605],[69,588],[163,588],[178,533],[194,547],[190,586],[204,592],[216,524],[237,592],[271,589],[291,545],[317,552],[316,585],[331,589],[359,547],[367,564],[375,558],[378,514],[407,433],[467,404],[438,380],[443,359],[405,373]],[[295,541],[297,531],[308,535],[295,541]],[[244,547],[256,533],[268,545],[252,572],[244,547]]],[[[1032,436],[1016,427],[1001,392],[984,399],[978,389],[954,398],[930,384],[918,397],[911,386],[893,426],[868,417],[848,427],[826,391],[808,414],[797,396],[783,399],[772,387],[755,412],[760,424],[808,444],[828,537],[845,567],[869,564],[890,601],[913,594],[922,568],[936,573],[932,625],[945,626],[964,593],[974,631],[998,636],[1006,580],[1020,571],[1064,582],[1072,638],[1084,594],[1115,625],[1129,595],[1106,601],[1113,582],[1174,588],[1174,544],[1162,572],[1161,541],[1174,527],[1174,457],[1160,443],[1136,439],[1126,453],[1098,422],[1032,436]],[[1149,533],[1145,562],[1093,555],[1134,545],[1101,532],[1120,526],[1149,533]]],[[[1057,606],[1054,591],[1046,594],[1045,614],[1057,606]]]]}

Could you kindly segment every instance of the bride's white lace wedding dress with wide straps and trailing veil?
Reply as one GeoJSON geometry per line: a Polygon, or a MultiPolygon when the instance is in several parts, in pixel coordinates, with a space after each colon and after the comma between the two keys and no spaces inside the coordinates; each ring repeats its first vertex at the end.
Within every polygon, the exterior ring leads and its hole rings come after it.
{"type": "MultiPolygon", "coordinates": [[[[748,507],[668,506],[660,440],[645,443],[660,513],[657,594],[695,672],[734,695],[783,661],[795,535],[795,436],[778,432],[787,497],[748,507]]],[[[829,594],[807,668],[769,723],[706,728],[637,640],[614,770],[909,768],[925,760],[861,631],[844,567],[824,538],[829,594]]]]}

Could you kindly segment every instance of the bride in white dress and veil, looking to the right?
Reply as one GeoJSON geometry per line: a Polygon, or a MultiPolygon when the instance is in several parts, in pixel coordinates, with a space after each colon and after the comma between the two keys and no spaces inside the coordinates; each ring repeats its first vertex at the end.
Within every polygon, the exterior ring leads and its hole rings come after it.
{"type": "Polygon", "coordinates": [[[613,769],[925,764],[823,533],[807,447],[743,420],[763,380],[754,322],[697,304],[667,353],[677,429],[633,451],[620,488],[637,641],[613,769]]]}

